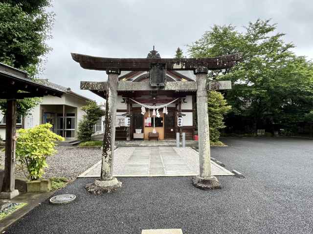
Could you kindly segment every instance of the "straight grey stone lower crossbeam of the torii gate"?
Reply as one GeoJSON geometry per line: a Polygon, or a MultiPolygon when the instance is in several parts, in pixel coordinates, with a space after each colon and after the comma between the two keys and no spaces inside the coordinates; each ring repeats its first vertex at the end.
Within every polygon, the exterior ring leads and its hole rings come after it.
{"type": "MultiPolygon", "coordinates": [[[[81,81],[80,88],[83,90],[107,90],[107,82],[81,81]]],[[[207,85],[208,90],[231,89],[230,81],[210,81],[207,85]]],[[[197,83],[190,81],[166,82],[165,86],[150,86],[149,82],[118,82],[117,91],[150,91],[150,90],[168,90],[168,91],[195,91],[197,83]]]]}

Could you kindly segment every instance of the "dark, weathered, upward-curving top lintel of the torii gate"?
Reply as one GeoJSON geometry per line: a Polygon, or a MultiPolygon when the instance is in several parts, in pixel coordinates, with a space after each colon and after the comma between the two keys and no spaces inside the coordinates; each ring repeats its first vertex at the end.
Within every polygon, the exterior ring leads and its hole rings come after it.
{"type": "Polygon", "coordinates": [[[198,67],[207,67],[209,70],[224,69],[234,66],[242,60],[242,55],[224,55],[214,58],[103,58],[83,54],[71,53],[72,59],[81,67],[90,70],[107,70],[111,68],[121,71],[147,71],[150,64],[166,64],[166,70],[195,70],[198,67]]]}

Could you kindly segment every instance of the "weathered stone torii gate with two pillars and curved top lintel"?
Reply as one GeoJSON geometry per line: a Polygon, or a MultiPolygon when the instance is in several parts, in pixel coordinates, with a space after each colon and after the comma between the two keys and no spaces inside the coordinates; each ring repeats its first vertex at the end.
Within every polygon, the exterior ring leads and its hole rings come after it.
{"type": "Polygon", "coordinates": [[[103,139],[101,178],[86,186],[93,194],[115,191],[121,187],[113,175],[113,157],[115,143],[116,99],[118,91],[164,90],[197,91],[197,114],[199,135],[200,174],[192,179],[195,187],[210,190],[220,188],[220,183],[211,175],[209,120],[207,109],[207,90],[230,89],[230,81],[211,81],[207,84],[208,70],[225,69],[241,61],[242,55],[225,55],[215,58],[161,59],[157,51],[152,50],[148,58],[102,58],[72,53],[72,59],[81,67],[91,70],[105,70],[108,82],[81,82],[81,89],[94,93],[106,91],[106,125],[103,139]],[[148,71],[149,82],[118,82],[121,71],[148,71]],[[164,82],[166,70],[193,70],[196,82],[164,82]]]}

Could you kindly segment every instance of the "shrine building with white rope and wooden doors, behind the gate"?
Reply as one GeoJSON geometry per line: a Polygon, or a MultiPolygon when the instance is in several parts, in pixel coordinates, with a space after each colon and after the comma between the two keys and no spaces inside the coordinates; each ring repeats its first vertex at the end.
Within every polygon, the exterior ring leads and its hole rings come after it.
{"type": "MultiPolygon", "coordinates": [[[[193,71],[166,71],[165,82],[195,82],[193,71]]],[[[122,71],[119,82],[150,82],[150,71],[122,71]]],[[[130,138],[149,139],[149,132],[156,129],[158,139],[175,139],[176,132],[184,132],[186,139],[194,139],[197,117],[195,112],[196,90],[168,92],[163,90],[118,91],[116,104],[116,140],[127,140],[125,117],[130,113],[130,138]],[[159,108],[159,117],[153,115],[153,109],[145,107],[142,114],[142,105],[167,106],[167,111],[159,108]],[[166,111],[166,113],[163,113],[166,111]],[[182,123],[178,127],[178,115],[181,114],[182,123]],[[136,133],[137,132],[137,133],[136,133]],[[140,134],[141,133],[141,134],[140,134]]],[[[126,124],[127,125],[127,124],[126,124]]]]}

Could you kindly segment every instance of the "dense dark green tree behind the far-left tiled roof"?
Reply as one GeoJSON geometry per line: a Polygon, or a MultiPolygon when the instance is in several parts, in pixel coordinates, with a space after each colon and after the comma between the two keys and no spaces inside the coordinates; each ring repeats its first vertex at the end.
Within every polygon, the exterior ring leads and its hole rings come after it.
{"type": "MultiPolygon", "coordinates": [[[[0,0],[0,62],[26,70],[31,79],[42,71],[43,58],[50,51],[54,13],[47,12],[50,0],[0,0]]],[[[40,99],[18,101],[18,114],[25,115],[40,99]]],[[[0,108],[6,111],[5,100],[0,108]]]]}

